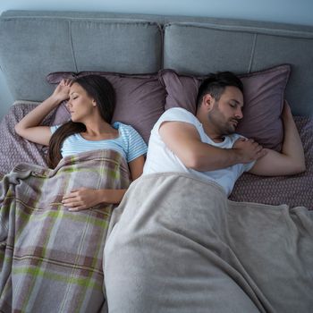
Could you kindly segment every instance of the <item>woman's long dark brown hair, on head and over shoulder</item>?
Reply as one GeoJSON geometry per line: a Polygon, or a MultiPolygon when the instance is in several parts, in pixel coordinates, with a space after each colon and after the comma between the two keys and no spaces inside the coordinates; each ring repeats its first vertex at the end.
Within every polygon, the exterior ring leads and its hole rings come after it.
{"type": "MultiPolygon", "coordinates": [[[[111,83],[105,77],[99,75],[81,76],[73,80],[74,82],[78,83],[89,97],[95,99],[101,117],[106,123],[111,123],[115,108],[115,92],[111,83]]],[[[62,158],[61,148],[63,141],[67,137],[82,131],[86,131],[83,123],[69,121],[54,132],[50,139],[47,153],[47,164],[50,168],[55,168],[62,158]]]]}

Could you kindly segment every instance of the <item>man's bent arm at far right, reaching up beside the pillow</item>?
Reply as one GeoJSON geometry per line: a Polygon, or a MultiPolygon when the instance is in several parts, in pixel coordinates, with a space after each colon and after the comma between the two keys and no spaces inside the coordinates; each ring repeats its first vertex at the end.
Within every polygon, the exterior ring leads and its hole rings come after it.
{"type": "Polygon", "coordinates": [[[283,106],[283,148],[278,153],[267,149],[265,157],[258,159],[250,173],[264,176],[292,175],[304,172],[305,158],[300,135],[293,121],[292,112],[285,101],[283,106]]]}

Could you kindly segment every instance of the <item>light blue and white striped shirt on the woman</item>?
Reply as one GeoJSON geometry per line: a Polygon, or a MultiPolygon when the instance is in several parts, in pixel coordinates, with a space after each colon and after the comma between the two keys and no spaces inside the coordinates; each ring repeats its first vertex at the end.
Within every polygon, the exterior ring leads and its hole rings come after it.
{"type": "MultiPolygon", "coordinates": [[[[51,126],[52,133],[61,125],[51,126]]],[[[113,149],[119,152],[129,163],[137,157],[147,153],[147,145],[140,134],[130,125],[115,122],[112,125],[119,131],[119,137],[114,140],[85,140],[80,133],[67,137],[61,148],[62,157],[68,157],[80,152],[98,149],[113,149]]]]}

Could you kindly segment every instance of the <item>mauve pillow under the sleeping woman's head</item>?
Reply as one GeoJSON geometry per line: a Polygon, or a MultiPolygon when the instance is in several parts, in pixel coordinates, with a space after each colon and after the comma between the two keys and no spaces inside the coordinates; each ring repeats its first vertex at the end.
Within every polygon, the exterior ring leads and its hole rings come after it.
{"type": "MultiPolygon", "coordinates": [[[[150,131],[157,119],[165,111],[165,89],[154,74],[128,75],[113,72],[53,72],[47,75],[47,81],[53,84],[62,79],[75,78],[89,74],[97,74],[109,80],[116,94],[116,106],[113,121],[130,124],[148,143],[150,131]]],[[[69,120],[69,114],[63,102],[55,110],[51,125],[69,120]]]]}

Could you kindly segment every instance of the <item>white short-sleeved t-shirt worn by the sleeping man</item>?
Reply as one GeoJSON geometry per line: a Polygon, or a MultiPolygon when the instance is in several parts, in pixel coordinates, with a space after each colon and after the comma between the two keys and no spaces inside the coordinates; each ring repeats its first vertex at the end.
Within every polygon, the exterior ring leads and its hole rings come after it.
{"type": "Polygon", "coordinates": [[[162,114],[151,131],[150,140],[148,142],[147,160],[143,169],[143,174],[164,172],[192,173],[202,180],[217,182],[224,188],[226,194],[229,196],[233,190],[234,183],[241,176],[241,174],[243,172],[249,171],[250,168],[254,165],[254,162],[246,165],[237,164],[226,167],[224,169],[208,172],[199,172],[187,168],[182,164],[182,161],[176,157],[176,155],[174,155],[169,148],[166,147],[165,142],[159,135],[159,127],[166,121],[193,124],[197,131],[199,131],[202,142],[219,148],[233,148],[233,143],[241,137],[239,134],[232,134],[225,136],[223,142],[216,143],[207,136],[203,130],[202,124],[195,115],[181,107],[174,107],[162,114]]]}

